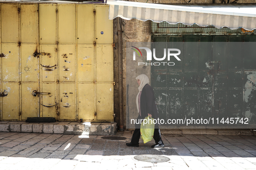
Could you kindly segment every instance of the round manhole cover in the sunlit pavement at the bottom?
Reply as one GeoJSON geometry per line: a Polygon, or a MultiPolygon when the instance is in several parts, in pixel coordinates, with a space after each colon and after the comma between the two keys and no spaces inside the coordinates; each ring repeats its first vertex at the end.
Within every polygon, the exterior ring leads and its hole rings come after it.
{"type": "Polygon", "coordinates": [[[138,161],[152,162],[152,163],[170,161],[169,157],[164,157],[161,155],[152,155],[152,154],[140,154],[135,156],[134,159],[138,161]]]}

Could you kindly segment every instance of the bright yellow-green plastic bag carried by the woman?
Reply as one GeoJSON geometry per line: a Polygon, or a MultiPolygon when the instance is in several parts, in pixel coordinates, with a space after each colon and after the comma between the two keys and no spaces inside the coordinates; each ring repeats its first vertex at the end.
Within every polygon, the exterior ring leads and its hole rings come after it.
{"type": "Polygon", "coordinates": [[[153,139],[155,124],[153,118],[150,116],[145,117],[140,125],[140,136],[144,143],[149,142],[153,139]]]}

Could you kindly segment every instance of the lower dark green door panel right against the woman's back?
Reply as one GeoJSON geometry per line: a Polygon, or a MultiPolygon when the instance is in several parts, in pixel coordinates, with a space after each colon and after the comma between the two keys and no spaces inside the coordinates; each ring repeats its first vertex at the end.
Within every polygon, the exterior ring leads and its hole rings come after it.
{"type": "Polygon", "coordinates": [[[167,90],[166,89],[154,89],[155,98],[156,98],[156,105],[158,109],[158,116],[159,119],[166,119],[167,116],[167,90]]]}

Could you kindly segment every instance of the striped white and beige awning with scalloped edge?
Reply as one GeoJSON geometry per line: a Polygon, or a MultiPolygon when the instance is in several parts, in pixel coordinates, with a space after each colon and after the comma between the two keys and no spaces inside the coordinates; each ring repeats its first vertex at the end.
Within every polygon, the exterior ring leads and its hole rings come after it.
{"type": "Polygon", "coordinates": [[[166,21],[170,24],[180,22],[185,25],[213,25],[217,28],[256,29],[255,3],[163,5],[107,0],[107,4],[110,5],[109,19],[121,17],[127,20],[166,21]]]}

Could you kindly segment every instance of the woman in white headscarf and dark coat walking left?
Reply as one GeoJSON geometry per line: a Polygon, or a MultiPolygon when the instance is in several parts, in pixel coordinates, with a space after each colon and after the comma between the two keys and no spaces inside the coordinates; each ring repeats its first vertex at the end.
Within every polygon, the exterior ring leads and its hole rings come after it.
{"type": "MultiPolygon", "coordinates": [[[[136,97],[136,105],[139,116],[137,120],[144,119],[146,116],[151,116],[153,119],[158,119],[158,110],[156,107],[156,100],[153,88],[149,85],[149,78],[145,74],[141,74],[136,77],[139,85],[139,93],[136,97]]],[[[126,143],[127,146],[139,147],[140,137],[140,124],[135,124],[135,130],[130,143],[126,143]]],[[[164,144],[162,142],[160,129],[155,124],[154,136],[156,144],[152,145],[151,148],[162,148],[164,144]]]]}

